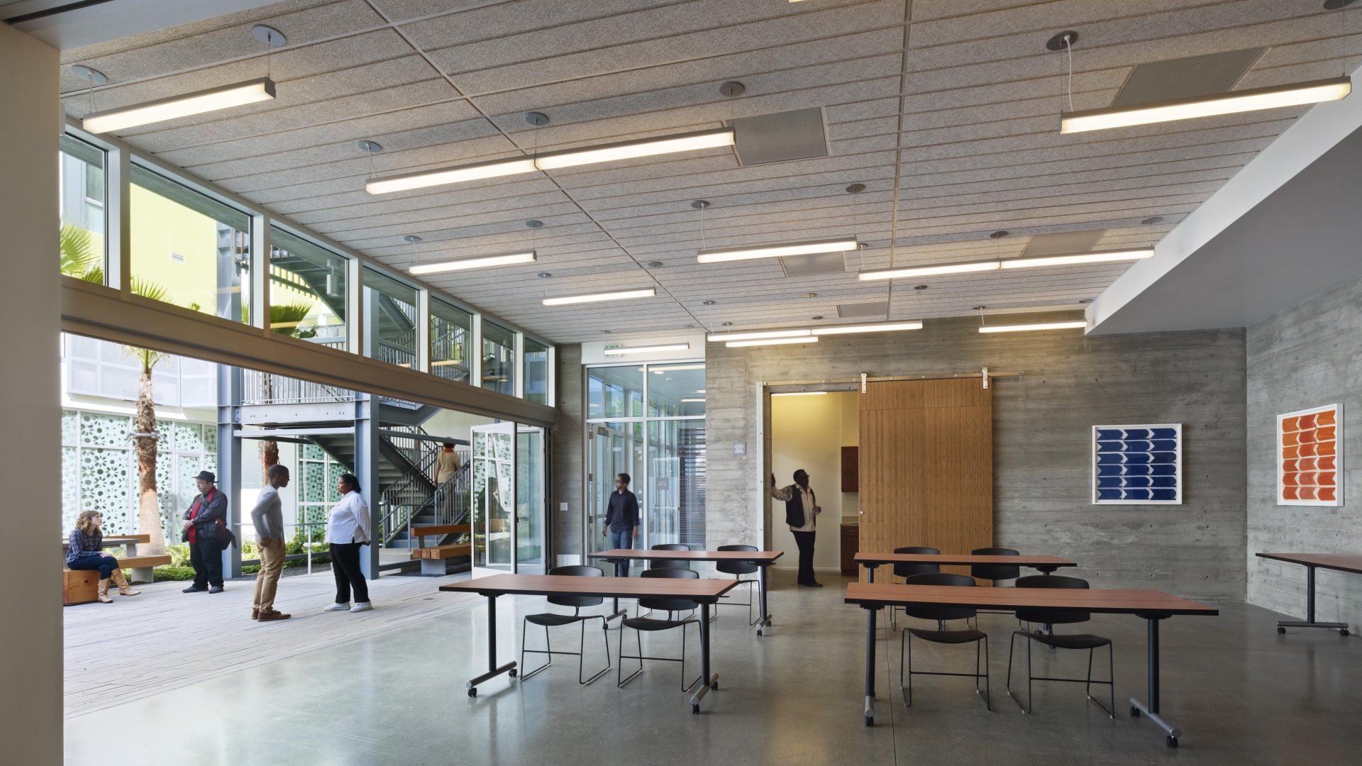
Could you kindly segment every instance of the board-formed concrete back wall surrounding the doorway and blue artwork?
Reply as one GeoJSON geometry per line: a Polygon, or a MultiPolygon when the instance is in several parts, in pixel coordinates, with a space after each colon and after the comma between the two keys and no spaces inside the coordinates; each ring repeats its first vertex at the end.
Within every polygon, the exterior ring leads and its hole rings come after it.
{"type": "MultiPolygon", "coordinates": [[[[990,323],[1041,322],[1026,315],[990,323]]],[[[1058,318],[1049,318],[1058,319],[1058,318]]],[[[1205,601],[1245,596],[1244,330],[1086,337],[978,333],[978,319],[923,330],[727,349],[706,365],[706,547],[761,534],[757,382],[1023,371],[994,382],[994,538],[1079,562],[1094,587],[1154,587],[1205,601]],[[1091,428],[1182,423],[1182,506],[1091,504],[1091,428]],[[733,455],[734,442],[748,444],[733,455]]],[[[770,427],[765,428],[770,433],[770,427]]],[[[913,541],[903,541],[911,545],[913,541]]]]}

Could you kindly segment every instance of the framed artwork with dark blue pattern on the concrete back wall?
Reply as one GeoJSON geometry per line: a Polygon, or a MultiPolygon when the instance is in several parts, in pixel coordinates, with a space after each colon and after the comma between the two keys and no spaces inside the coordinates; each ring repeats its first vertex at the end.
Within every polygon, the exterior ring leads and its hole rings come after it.
{"type": "Polygon", "coordinates": [[[1094,425],[1092,504],[1181,506],[1182,424],[1094,425]]]}

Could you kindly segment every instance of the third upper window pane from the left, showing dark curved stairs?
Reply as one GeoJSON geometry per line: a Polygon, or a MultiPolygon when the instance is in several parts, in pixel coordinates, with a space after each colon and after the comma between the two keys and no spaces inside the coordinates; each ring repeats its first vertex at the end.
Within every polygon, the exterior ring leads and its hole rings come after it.
{"type": "Polygon", "coordinates": [[[270,328],[336,349],[346,345],[346,259],[270,228],[270,328]]]}

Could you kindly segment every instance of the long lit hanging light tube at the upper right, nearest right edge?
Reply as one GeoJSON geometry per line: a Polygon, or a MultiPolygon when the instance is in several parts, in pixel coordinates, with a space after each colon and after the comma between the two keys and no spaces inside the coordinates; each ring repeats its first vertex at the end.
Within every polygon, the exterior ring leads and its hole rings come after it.
{"type": "Polygon", "coordinates": [[[1318,104],[1320,101],[1337,101],[1347,97],[1348,93],[1352,93],[1352,79],[1333,78],[1234,90],[1212,95],[1196,95],[1192,98],[1174,98],[1152,104],[1087,109],[1084,112],[1061,112],[1060,132],[1079,134],[1084,131],[1166,123],[1170,120],[1209,117],[1212,114],[1234,114],[1237,112],[1253,112],[1257,109],[1299,106],[1302,104],[1318,104]]]}

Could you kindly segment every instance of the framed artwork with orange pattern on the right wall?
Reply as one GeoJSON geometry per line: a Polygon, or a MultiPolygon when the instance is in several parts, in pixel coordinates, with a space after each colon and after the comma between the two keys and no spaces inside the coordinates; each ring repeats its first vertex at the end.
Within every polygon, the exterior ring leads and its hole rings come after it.
{"type": "Polygon", "coordinates": [[[1278,504],[1343,504],[1343,405],[1278,416],[1278,504]]]}

